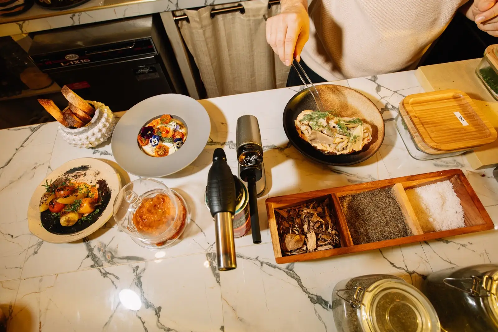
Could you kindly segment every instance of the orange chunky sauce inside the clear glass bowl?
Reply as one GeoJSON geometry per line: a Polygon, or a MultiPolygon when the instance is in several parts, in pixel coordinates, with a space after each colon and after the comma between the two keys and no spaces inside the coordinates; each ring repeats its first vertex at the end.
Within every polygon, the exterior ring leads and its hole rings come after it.
{"type": "Polygon", "coordinates": [[[172,220],[175,214],[175,206],[171,199],[165,194],[158,193],[140,203],[133,213],[133,224],[140,233],[159,235],[168,228],[167,221],[172,220]]]}

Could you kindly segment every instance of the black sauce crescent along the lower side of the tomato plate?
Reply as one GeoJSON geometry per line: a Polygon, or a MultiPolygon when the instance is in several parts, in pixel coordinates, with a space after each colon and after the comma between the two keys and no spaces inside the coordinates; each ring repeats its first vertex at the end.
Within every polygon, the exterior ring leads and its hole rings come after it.
{"type": "Polygon", "coordinates": [[[60,223],[60,218],[55,214],[53,215],[49,210],[46,210],[40,213],[41,225],[43,226],[43,228],[45,228],[52,234],[67,235],[82,231],[96,222],[111,200],[111,188],[109,187],[107,182],[103,179],[100,179],[97,180],[97,184],[99,186],[97,189],[97,191],[99,192],[99,201],[97,203],[100,203],[100,205],[97,205],[95,208],[100,209],[99,213],[94,214],[90,220],[82,221],[80,219],[73,226],[68,227],[62,226],[60,223]]]}

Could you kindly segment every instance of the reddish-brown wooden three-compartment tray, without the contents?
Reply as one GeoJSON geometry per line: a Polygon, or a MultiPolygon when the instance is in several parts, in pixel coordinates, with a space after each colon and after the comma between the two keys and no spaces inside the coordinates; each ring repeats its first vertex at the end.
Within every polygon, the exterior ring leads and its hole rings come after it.
{"type": "Polygon", "coordinates": [[[346,185],[342,187],[301,192],[292,195],[270,197],[266,199],[266,211],[268,213],[268,224],[270,228],[271,242],[273,244],[273,252],[275,254],[275,261],[278,264],[307,261],[311,259],[349,254],[394,245],[479,232],[494,228],[493,221],[491,220],[488,212],[460,169],[443,170],[346,185]],[[452,182],[453,188],[457,196],[460,198],[460,204],[462,205],[464,211],[465,227],[423,233],[404,190],[446,180],[450,180],[450,182],[452,182]],[[407,227],[410,228],[414,235],[355,245],[349,232],[348,224],[346,222],[339,197],[385,187],[393,187],[393,193],[396,196],[396,200],[398,201],[401,211],[404,214],[407,227]],[[336,227],[341,238],[341,247],[322,251],[313,251],[310,253],[282,256],[278,236],[278,227],[275,218],[275,209],[285,209],[299,206],[304,202],[310,202],[313,200],[321,201],[326,198],[330,199],[332,207],[331,213],[334,213],[336,219],[336,227]]]}

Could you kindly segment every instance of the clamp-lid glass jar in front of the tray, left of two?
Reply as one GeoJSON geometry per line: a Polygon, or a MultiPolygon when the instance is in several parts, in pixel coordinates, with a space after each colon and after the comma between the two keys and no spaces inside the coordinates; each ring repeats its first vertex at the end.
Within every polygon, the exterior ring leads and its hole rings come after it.
{"type": "Polygon", "coordinates": [[[340,281],[332,294],[339,332],[439,332],[429,300],[402,279],[373,274],[340,281]]]}

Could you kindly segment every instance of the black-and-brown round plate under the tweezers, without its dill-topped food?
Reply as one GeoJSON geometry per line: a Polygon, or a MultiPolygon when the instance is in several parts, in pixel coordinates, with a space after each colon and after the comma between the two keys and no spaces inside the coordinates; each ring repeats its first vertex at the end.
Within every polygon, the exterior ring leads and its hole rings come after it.
{"type": "Polygon", "coordinates": [[[341,117],[360,118],[372,126],[372,141],[362,151],[349,155],[325,155],[313,148],[297,134],[294,126],[299,113],[316,110],[313,97],[307,89],[292,97],[283,112],[283,129],[290,143],[304,156],[326,165],[347,166],[366,161],[380,148],[384,140],[384,120],[373,102],[360,92],[342,85],[321,84],[316,86],[324,107],[341,117]]]}

